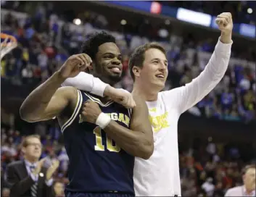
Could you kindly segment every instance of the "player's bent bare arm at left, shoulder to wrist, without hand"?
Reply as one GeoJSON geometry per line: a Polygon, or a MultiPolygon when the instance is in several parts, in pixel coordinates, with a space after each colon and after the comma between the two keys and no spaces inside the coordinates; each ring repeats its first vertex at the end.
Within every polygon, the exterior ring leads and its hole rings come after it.
{"type": "Polygon", "coordinates": [[[27,122],[50,120],[62,112],[69,101],[77,96],[73,87],[59,88],[62,83],[59,72],[29,94],[20,107],[20,117],[27,122]]]}

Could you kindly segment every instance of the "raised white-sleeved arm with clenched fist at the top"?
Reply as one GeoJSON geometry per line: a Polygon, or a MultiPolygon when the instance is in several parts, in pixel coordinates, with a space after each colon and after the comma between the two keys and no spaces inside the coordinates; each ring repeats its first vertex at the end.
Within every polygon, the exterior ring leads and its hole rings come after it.
{"type": "Polygon", "coordinates": [[[210,93],[228,68],[233,43],[231,40],[233,29],[231,14],[224,12],[218,15],[216,23],[221,30],[221,35],[205,70],[191,83],[173,90],[178,92],[178,109],[181,113],[186,112],[210,93]]]}

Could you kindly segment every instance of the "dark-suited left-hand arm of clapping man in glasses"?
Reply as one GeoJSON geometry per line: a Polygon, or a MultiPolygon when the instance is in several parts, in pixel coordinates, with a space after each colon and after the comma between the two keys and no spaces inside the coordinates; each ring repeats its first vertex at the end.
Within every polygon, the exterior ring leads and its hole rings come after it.
{"type": "Polygon", "coordinates": [[[21,196],[31,188],[34,181],[30,176],[19,180],[15,172],[15,167],[13,164],[9,164],[7,166],[7,183],[11,190],[11,196],[21,196]]]}

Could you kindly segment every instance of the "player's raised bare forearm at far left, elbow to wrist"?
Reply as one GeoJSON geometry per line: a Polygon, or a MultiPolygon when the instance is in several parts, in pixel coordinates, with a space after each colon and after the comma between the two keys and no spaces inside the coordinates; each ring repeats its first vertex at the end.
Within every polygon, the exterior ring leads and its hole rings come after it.
{"type": "Polygon", "coordinates": [[[22,120],[31,121],[40,117],[48,106],[51,97],[64,80],[59,76],[59,72],[55,72],[45,83],[32,91],[20,107],[20,117],[22,120]]]}

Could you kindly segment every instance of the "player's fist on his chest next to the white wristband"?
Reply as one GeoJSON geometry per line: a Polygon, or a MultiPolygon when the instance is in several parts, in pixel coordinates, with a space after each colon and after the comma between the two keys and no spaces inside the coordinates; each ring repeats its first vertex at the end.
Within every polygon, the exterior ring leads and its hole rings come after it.
{"type": "Polygon", "coordinates": [[[94,101],[88,100],[83,104],[82,109],[82,118],[83,121],[90,122],[95,124],[99,114],[102,113],[102,110],[99,108],[99,105],[94,101]]]}

